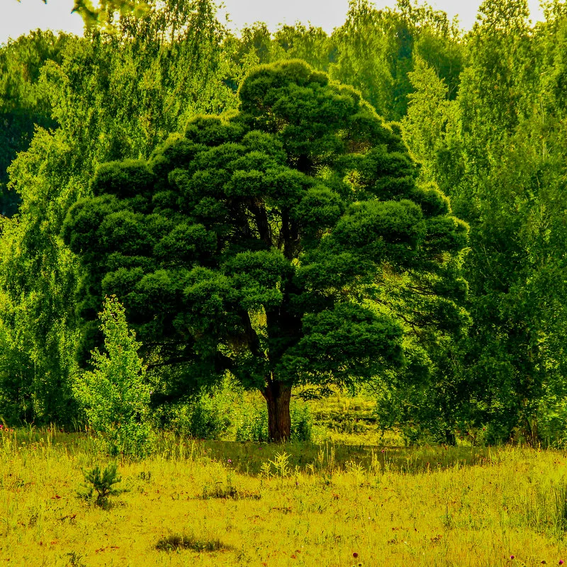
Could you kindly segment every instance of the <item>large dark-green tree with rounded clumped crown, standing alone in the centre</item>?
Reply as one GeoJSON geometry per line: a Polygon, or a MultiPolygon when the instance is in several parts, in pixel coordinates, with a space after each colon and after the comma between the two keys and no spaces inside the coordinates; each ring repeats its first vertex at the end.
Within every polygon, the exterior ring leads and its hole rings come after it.
{"type": "Polygon", "coordinates": [[[229,371],[283,440],[293,386],[427,375],[427,342],[466,315],[467,229],[352,88],[292,61],[239,95],[148,162],[100,167],[63,236],[89,272],[91,330],[116,293],[150,368],[182,369],[181,389],[229,371]]]}

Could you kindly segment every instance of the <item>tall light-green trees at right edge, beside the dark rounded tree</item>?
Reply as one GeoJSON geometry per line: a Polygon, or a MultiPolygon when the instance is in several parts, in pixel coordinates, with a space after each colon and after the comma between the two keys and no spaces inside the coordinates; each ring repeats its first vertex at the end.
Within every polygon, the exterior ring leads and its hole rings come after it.
{"type": "Polygon", "coordinates": [[[483,2],[459,95],[419,62],[403,128],[422,177],[471,226],[473,325],[438,390],[452,402],[433,420],[486,425],[490,442],[565,443],[567,18],[559,2],[535,28],[528,14],[525,0],[483,2]]]}

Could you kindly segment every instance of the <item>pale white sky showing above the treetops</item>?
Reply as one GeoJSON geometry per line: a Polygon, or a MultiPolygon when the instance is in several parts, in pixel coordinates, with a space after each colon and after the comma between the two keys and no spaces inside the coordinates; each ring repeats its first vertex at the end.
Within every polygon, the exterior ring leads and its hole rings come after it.
{"type": "MultiPolygon", "coordinates": [[[[378,8],[394,6],[395,0],[374,0],[378,8]]],[[[275,29],[279,23],[296,21],[312,23],[327,32],[344,23],[348,0],[224,0],[230,13],[233,28],[246,23],[265,21],[275,29]]],[[[464,28],[471,28],[481,0],[430,0],[429,4],[447,12],[450,18],[459,14],[464,28]]],[[[532,20],[541,18],[539,0],[529,0],[532,20]]],[[[81,34],[83,23],[72,14],[73,0],[0,0],[0,43],[8,38],[18,38],[31,29],[64,30],[81,34]]]]}

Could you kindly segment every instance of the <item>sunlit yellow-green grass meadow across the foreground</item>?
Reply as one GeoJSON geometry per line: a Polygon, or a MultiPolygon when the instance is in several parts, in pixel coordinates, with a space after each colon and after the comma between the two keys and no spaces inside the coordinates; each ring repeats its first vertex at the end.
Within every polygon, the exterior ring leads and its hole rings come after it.
{"type": "Polygon", "coordinates": [[[0,434],[0,564],[536,566],[567,560],[563,451],[180,442],[110,461],[84,435],[0,434]]]}

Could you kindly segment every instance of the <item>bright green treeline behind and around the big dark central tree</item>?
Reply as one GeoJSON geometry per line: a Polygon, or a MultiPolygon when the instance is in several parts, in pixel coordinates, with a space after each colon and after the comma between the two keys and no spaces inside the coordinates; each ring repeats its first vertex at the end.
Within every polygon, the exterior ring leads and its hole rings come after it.
{"type": "MultiPolygon", "coordinates": [[[[354,0],[331,35],[233,35],[209,0],[167,0],[84,38],[37,31],[1,47],[0,416],[77,420],[84,310],[101,306],[77,296],[87,274],[62,226],[99,164],[148,159],[192,116],[234,111],[252,67],[301,59],[398,123],[420,184],[470,226],[470,325],[429,342],[427,373],[376,377],[383,427],[566,442],[567,5],[550,2],[536,26],[528,15],[525,0],[485,0],[464,34],[427,5],[354,0]]],[[[150,372],[156,393],[168,372],[150,372]]]]}

